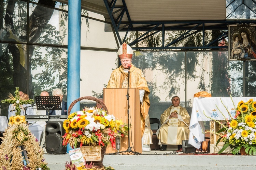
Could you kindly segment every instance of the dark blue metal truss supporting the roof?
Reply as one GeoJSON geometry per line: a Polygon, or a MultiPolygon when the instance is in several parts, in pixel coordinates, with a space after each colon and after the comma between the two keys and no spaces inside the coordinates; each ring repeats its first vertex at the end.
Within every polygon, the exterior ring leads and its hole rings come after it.
{"type": "Polygon", "coordinates": [[[117,0],[112,0],[108,3],[108,0],[103,0],[106,9],[109,13],[110,20],[112,22],[114,31],[117,35],[120,44],[123,44],[127,38],[129,31],[144,31],[145,33],[140,37],[129,43],[130,46],[137,44],[138,42],[158,33],[162,32],[162,46],[161,47],[132,47],[134,50],[168,50],[168,49],[228,49],[228,46],[213,46],[218,41],[228,37],[228,25],[230,24],[255,24],[256,20],[201,20],[201,21],[132,21],[125,0],[122,0],[123,5],[115,6],[117,0]],[[117,15],[117,13],[119,13],[117,15]],[[122,19],[126,15],[128,22],[122,22],[122,19]],[[180,37],[173,40],[171,43],[165,45],[165,31],[172,30],[187,30],[180,37]],[[209,44],[205,44],[205,30],[223,30],[225,31],[217,39],[213,39],[209,44]],[[121,39],[119,32],[125,31],[125,37],[121,39]],[[202,31],[202,46],[198,47],[174,47],[173,44],[202,31]]]}

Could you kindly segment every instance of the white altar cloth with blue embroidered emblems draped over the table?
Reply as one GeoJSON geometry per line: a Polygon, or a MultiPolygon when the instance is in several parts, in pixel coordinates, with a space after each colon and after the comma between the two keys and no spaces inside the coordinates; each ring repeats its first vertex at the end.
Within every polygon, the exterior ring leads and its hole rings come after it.
{"type": "Polygon", "coordinates": [[[226,118],[231,119],[228,112],[232,117],[236,115],[236,107],[237,104],[243,100],[244,102],[247,102],[248,100],[253,99],[253,101],[256,101],[256,98],[252,97],[209,97],[209,98],[194,98],[192,112],[191,112],[191,118],[190,118],[190,124],[189,124],[189,139],[188,143],[193,145],[195,148],[199,149],[201,146],[201,142],[204,141],[204,125],[202,121],[210,121],[211,117],[215,120],[225,120],[226,118]],[[234,104],[233,104],[233,102],[234,104]],[[226,106],[225,106],[222,104],[226,106]],[[218,108],[217,108],[218,107],[218,108]],[[204,114],[203,114],[204,112],[204,114]],[[225,117],[223,117],[223,115],[225,117]]]}

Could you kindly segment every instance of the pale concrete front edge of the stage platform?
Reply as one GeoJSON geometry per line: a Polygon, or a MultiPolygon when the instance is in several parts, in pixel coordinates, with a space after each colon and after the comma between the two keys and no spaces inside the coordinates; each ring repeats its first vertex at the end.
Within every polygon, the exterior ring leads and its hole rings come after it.
{"type": "MultiPolygon", "coordinates": [[[[69,154],[46,153],[44,157],[51,170],[63,170],[66,161],[70,161],[69,154]]],[[[142,155],[104,155],[103,164],[116,170],[252,170],[256,169],[255,159],[256,156],[250,155],[152,150],[142,152],[142,155]]]]}

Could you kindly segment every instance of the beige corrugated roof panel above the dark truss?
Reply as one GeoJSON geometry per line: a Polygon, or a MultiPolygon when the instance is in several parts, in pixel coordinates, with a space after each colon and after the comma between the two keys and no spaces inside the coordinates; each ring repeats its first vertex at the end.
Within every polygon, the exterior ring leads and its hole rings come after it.
{"type": "Polygon", "coordinates": [[[126,0],[132,21],[224,20],[225,0],[126,0]]]}

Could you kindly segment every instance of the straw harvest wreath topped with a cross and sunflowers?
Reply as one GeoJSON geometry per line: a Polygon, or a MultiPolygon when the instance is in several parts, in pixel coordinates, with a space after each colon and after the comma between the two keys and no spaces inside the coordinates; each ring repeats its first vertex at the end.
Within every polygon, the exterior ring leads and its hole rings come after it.
{"type": "Polygon", "coordinates": [[[44,151],[40,148],[38,140],[28,129],[25,116],[20,116],[23,104],[31,104],[34,100],[19,95],[16,87],[15,96],[9,94],[8,99],[2,103],[12,103],[15,107],[15,116],[9,118],[9,127],[3,133],[0,145],[0,167],[3,170],[22,169],[32,170],[42,168],[49,170],[44,159],[44,151]],[[27,153],[24,156],[23,152],[27,153]]]}

